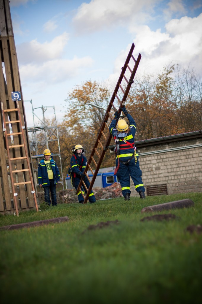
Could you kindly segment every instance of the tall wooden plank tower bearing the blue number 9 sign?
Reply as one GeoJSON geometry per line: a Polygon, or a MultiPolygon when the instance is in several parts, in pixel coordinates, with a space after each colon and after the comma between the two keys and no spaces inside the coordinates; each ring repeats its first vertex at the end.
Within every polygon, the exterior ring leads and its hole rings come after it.
{"type": "Polygon", "coordinates": [[[0,60],[0,213],[18,216],[38,203],[8,0],[0,0],[0,60]]]}

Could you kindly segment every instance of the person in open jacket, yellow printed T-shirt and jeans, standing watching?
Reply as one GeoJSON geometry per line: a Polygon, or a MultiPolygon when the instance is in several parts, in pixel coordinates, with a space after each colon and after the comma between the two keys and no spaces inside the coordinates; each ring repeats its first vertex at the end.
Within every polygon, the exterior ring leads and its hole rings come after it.
{"type": "Polygon", "coordinates": [[[51,157],[51,151],[43,151],[44,158],[38,165],[39,187],[44,188],[44,199],[47,205],[57,206],[56,185],[60,179],[60,173],[56,162],[51,157]],[[51,192],[51,200],[50,200],[51,192]]]}

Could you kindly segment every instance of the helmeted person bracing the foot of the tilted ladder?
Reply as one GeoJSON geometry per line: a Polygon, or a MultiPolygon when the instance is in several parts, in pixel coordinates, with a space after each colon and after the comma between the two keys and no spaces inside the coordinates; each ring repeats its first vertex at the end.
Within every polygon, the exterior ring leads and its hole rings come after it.
{"type": "MultiPolygon", "coordinates": [[[[74,153],[74,155],[72,155],[72,157],[71,157],[70,168],[69,168],[69,174],[71,174],[71,178],[72,178],[72,185],[75,187],[75,189],[77,189],[80,179],[82,178],[86,187],[89,188],[89,185],[90,185],[89,180],[87,179],[86,175],[83,173],[86,168],[86,165],[87,165],[86,156],[83,154],[84,149],[81,145],[76,145],[73,148],[72,152],[74,153]]],[[[85,191],[85,193],[87,193],[85,187],[81,187],[81,190],[82,190],[83,194],[84,194],[84,191],[85,191]]],[[[95,198],[95,195],[93,194],[92,190],[89,194],[88,199],[91,204],[96,202],[96,198],[95,198]]],[[[83,204],[84,199],[83,199],[83,196],[80,191],[78,193],[78,200],[79,200],[79,203],[83,204]]]]}

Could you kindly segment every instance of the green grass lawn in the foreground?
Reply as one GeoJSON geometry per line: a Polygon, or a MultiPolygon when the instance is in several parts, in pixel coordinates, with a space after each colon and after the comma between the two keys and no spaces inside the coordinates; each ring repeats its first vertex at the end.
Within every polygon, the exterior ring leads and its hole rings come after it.
{"type": "Polygon", "coordinates": [[[202,233],[186,231],[202,224],[202,193],[41,209],[0,216],[0,226],[69,217],[65,223],[0,231],[2,304],[202,303],[202,233]],[[146,206],[187,198],[194,207],[141,213],[146,206]],[[168,213],[177,218],[140,221],[168,213]]]}

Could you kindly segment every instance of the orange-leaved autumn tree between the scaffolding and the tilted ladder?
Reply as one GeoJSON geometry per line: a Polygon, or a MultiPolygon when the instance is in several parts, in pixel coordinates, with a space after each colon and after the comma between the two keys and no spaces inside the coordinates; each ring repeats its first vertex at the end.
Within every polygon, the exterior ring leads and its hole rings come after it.
{"type": "MultiPolygon", "coordinates": [[[[93,150],[97,133],[103,121],[110,100],[110,91],[104,84],[86,81],[69,93],[65,105],[64,119],[60,129],[61,150],[64,151],[63,162],[69,165],[72,147],[81,144],[88,159],[93,150]],[[93,104],[95,106],[92,106],[93,104]]],[[[109,130],[106,130],[108,136],[109,130]]],[[[101,147],[98,147],[101,152],[101,147]]],[[[114,155],[107,151],[102,167],[114,166],[114,155]]]]}

